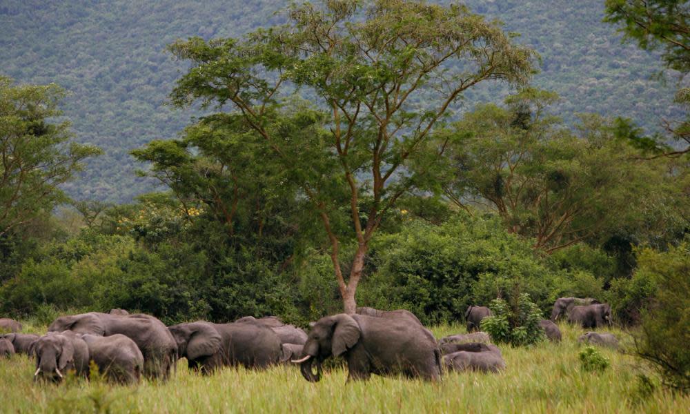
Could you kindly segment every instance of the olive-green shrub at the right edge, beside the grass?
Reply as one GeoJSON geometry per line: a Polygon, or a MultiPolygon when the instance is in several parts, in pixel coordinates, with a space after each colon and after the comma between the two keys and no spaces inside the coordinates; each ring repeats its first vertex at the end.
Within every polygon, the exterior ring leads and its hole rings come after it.
{"type": "Polygon", "coordinates": [[[637,273],[656,285],[635,337],[637,355],[657,369],[666,386],[690,391],[690,242],[667,252],[640,251],[637,273]]]}

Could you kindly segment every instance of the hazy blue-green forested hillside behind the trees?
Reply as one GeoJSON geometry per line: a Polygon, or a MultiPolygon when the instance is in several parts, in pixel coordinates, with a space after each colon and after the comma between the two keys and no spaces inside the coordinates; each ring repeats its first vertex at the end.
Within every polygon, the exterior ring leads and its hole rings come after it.
{"type": "MultiPolygon", "coordinates": [[[[58,83],[71,95],[63,104],[80,142],[105,154],[92,159],[84,177],[66,184],[77,199],[128,201],[153,188],[136,177],[141,164],[129,155],[152,139],[175,137],[195,115],[166,106],[184,70],[164,50],[190,36],[237,36],[283,20],[288,1],[47,2],[0,4],[0,74],[20,82],[58,83]]],[[[448,3],[444,1],[444,3],[448,3]]],[[[649,77],[658,57],[621,45],[615,28],[602,23],[602,0],[467,2],[475,12],[498,18],[522,34],[520,42],[542,57],[535,84],[562,100],[553,108],[566,120],[575,112],[630,117],[649,130],[673,117],[673,85],[649,77]]],[[[500,101],[505,90],[468,93],[467,108],[500,101]]]]}

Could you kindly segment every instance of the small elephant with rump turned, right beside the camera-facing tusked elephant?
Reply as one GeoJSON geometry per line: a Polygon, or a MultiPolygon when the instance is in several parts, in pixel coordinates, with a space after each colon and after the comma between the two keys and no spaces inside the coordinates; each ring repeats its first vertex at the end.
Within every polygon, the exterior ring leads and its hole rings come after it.
{"type": "Polygon", "coordinates": [[[116,333],[107,337],[79,334],[86,342],[90,359],[113,382],[139,382],[144,372],[144,355],[132,339],[116,333]]]}

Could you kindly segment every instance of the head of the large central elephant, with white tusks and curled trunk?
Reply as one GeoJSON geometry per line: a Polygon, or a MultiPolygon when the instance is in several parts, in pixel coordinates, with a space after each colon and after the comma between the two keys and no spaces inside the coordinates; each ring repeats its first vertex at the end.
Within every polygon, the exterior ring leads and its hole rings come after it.
{"type": "Polygon", "coordinates": [[[359,324],[345,313],[326,316],[319,319],[309,331],[309,335],[302,350],[302,359],[293,361],[302,364],[300,371],[309,382],[321,380],[321,362],[333,356],[339,356],[352,348],[359,341],[362,331],[359,324]],[[316,374],[313,373],[312,364],[316,360],[316,374]]]}

